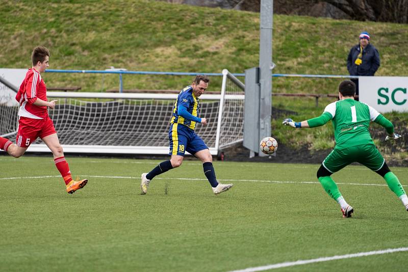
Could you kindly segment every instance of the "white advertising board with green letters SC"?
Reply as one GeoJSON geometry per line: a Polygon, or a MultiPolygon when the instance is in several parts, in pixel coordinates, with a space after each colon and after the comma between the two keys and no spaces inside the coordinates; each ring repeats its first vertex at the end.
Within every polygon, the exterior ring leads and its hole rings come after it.
{"type": "Polygon", "coordinates": [[[408,112],[408,77],[360,76],[359,98],[380,113],[408,112]]]}

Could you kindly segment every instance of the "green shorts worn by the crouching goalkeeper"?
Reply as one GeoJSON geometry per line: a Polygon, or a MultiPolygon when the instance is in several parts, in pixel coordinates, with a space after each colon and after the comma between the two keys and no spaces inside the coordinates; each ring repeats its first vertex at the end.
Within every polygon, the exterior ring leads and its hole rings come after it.
{"type": "Polygon", "coordinates": [[[377,171],[384,165],[384,161],[375,145],[359,145],[344,149],[335,148],[322,164],[331,173],[339,171],[352,162],[359,162],[372,171],[377,171]]]}

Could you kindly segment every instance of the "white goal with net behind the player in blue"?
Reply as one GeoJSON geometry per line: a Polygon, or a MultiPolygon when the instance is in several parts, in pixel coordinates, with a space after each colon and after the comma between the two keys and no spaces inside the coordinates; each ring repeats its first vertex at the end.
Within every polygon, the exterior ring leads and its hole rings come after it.
{"type": "MultiPolygon", "coordinates": [[[[48,92],[58,99],[49,116],[64,152],[168,154],[168,129],[177,94],[48,92]]],[[[243,139],[244,85],[223,70],[220,94],[200,96],[196,133],[213,155],[243,139]]],[[[0,103],[0,135],[14,141],[18,105],[0,103]]],[[[27,151],[49,152],[37,139],[27,151]]]]}

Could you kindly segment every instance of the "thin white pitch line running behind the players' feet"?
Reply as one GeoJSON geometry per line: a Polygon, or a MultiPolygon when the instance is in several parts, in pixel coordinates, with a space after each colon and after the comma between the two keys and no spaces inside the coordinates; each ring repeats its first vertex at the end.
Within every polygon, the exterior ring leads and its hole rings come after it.
{"type": "MultiPolygon", "coordinates": [[[[94,175],[80,175],[87,178],[117,178],[117,179],[140,179],[140,177],[130,177],[130,176],[94,176],[94,175]]],[[[56,178],[60,176],[34,176],[34,177],[8,177],[0,178],[0,180],[11,180],[11,179],[38,179],[38,178],[56,178]]],[[[155,179],[166,179],[166,180],[203,180],[203,178],[160,178],[156,177],[155,179]]],[[[256,179],[218,179],[219,181],[243,181],[243,182],[266,182],[266,183],[289,183],[289,184],[320,184],[318,181],[282,181],[282,180],[256,180],[256,179]]],[[[337,184],[344,185],[363,185],[363,186],[388,186],[387,184],[374,184],[374,183],[341,183],[336,182],[337,184]]],[[[406,186],[406,185],[403,185],[406,186]]]]}

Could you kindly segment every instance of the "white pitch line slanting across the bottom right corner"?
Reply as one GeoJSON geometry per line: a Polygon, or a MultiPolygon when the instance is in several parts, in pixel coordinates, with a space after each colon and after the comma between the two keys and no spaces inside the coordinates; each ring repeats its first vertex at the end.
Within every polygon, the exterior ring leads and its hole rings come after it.
{"type": "Polygon", "coordinates": [[[403,251],[408,251],[408,248],[398,248],[398,249],[386,249],[386,250],[378,250],[378,251],[360,252],[360,253],[354,253],[354,254],[336,255],[336,256],[331,256],[331,257],[321,257],[321,258],[310,259],[310,260],[298,260],[298,261],[295,261],[295,262],[281,262],[281,263],[269,264],[269,265],[265,265],[265,266],[249,267],[249,268],[242,269],[242,270],[233,270],[231,272],[264,271],[264,270],[282,268],[282,267],[288,267],[288,266],[294,266],[294,265],[302,265],[302,264],[309,264],[309,263],[315,263],[315,262],[327,262],[327,261],[333,261],[333,260],[357,258],[357,257],[380,255],[380,254],[387,254],[387,253],[393,253],[393,252],[403,252],[403,251]]]}

